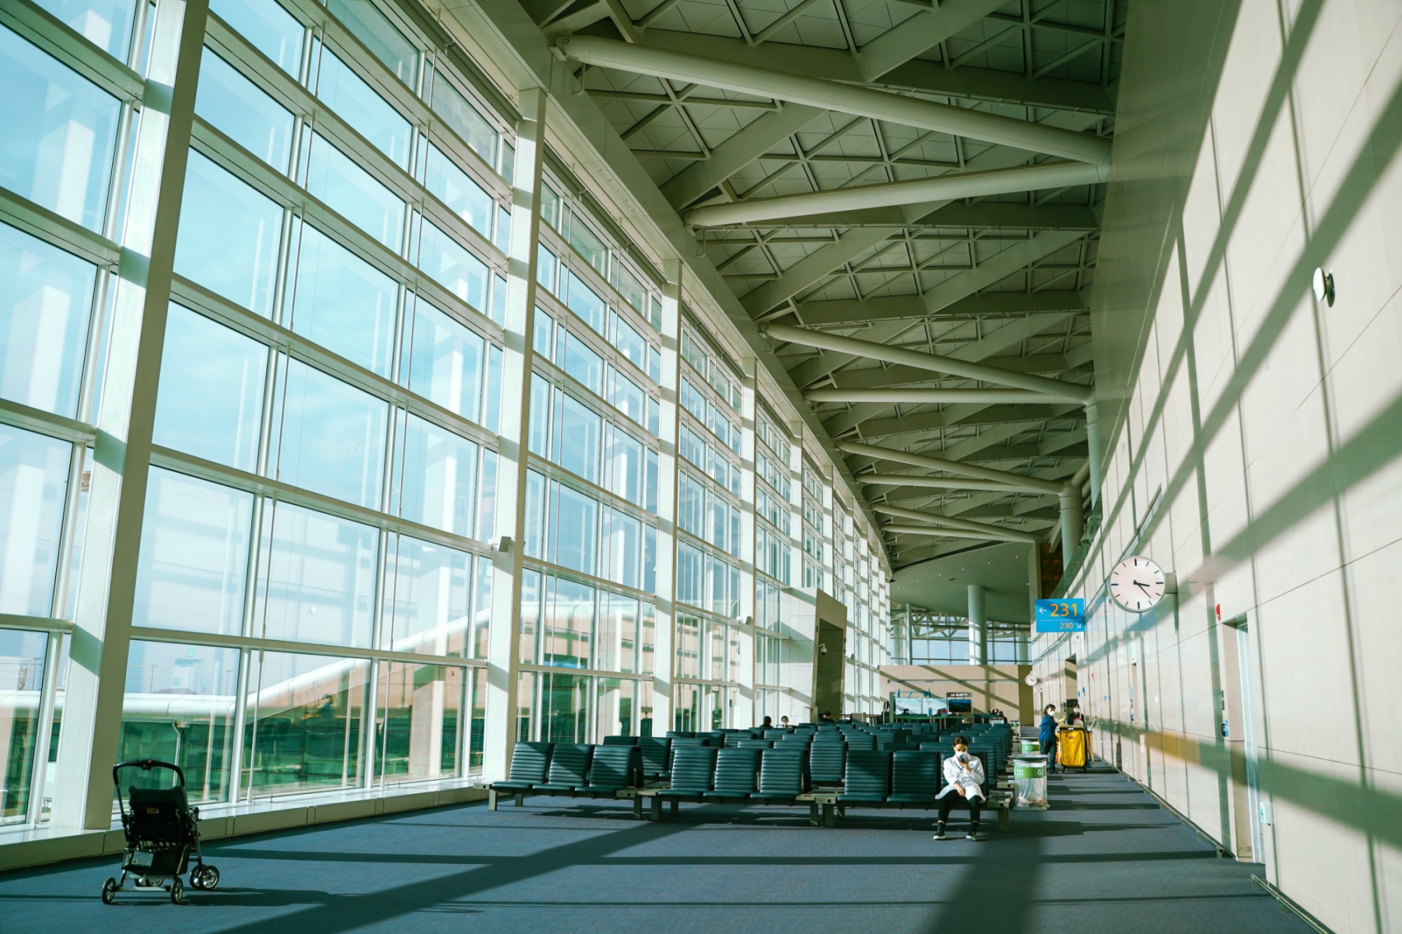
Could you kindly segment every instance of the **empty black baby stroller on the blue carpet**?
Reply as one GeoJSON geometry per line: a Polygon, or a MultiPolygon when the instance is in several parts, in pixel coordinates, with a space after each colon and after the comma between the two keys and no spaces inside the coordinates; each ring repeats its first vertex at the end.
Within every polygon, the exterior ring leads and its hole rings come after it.
{"type": "Polygon", "coordinates": [[[151,759],[130,759],[112,766],[112,781],[116,784],[116,805],[122,811],[122,830],[126,833],[126,848],[122,850],[122,878],[102,884],[102,903],[111,905],[116,892],[126,885],[126,877],[133,877],[137,892],[170,892],[171,902],[179,905],[185,898],[185,884],[181,875],[189,867],[189,851],[195,850],[195,868],[189,869],[189,884],[196,889],[212,889],[219,885],[219,869],[205,864],[199,851],[199,808],[191,808],[185,801],[185,773],[179,766],[151,759]],[[171,788],[126,790],[122,804],[123,769],[170,769],[179,784],[171,788]],[[168,881],[168,884],[167,884],[168,881]]]}

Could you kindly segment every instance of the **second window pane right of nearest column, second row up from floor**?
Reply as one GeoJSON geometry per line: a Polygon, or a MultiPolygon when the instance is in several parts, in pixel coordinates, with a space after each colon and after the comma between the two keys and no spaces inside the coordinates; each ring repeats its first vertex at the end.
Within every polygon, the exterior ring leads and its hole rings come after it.
{"type": "Polygon", "coordinates": [[[376,543],[369,526],[279,502],[265,523],[254,635],[369,648],[376,543]]]}

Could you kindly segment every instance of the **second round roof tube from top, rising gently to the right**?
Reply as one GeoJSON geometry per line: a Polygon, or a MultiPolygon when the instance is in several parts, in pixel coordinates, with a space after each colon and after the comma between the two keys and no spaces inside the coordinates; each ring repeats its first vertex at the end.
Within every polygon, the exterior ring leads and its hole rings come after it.
{"type": "Polygon", "coordinates": [[[747,224],[780,217],[806,217],[837,210],[924,205],[959,198],[1011,195],[1046,188],[1071,188],[1109,181],[1110,167],[1091,163],[1042,163],[986,172],[948,172],[938,178],[836,188],[781,198],[751,198],[729,205],[709,205],[687,213],[687,223],[697,227],[747,224]]]}

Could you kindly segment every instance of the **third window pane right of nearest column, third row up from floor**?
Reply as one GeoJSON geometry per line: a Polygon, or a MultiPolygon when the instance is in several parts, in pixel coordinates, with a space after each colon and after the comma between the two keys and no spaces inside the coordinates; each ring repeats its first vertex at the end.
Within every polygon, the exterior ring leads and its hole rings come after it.
{"type": "Polygon", "coordinates": [[[394,463],[390,509],[425,526],[472,536],[477,445],[407,415],[404,449],[394,463]]]}

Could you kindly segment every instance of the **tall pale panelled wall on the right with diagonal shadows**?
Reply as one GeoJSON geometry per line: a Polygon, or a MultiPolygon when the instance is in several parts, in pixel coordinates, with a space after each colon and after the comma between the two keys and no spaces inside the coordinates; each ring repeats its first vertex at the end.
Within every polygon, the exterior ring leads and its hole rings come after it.
{"type": "Polygon", "coordinates": [[[1340,934],[1402,931],[1399,17],[1130,4],[1092,299],[1105,520],[1073,590],[1089,625],[1032,654],[1043,677],[1078,659],[1099,754],[1340,934]],[[1144,616],[1098,600],[1126,553],[1178,593],[1144,616]]]}

